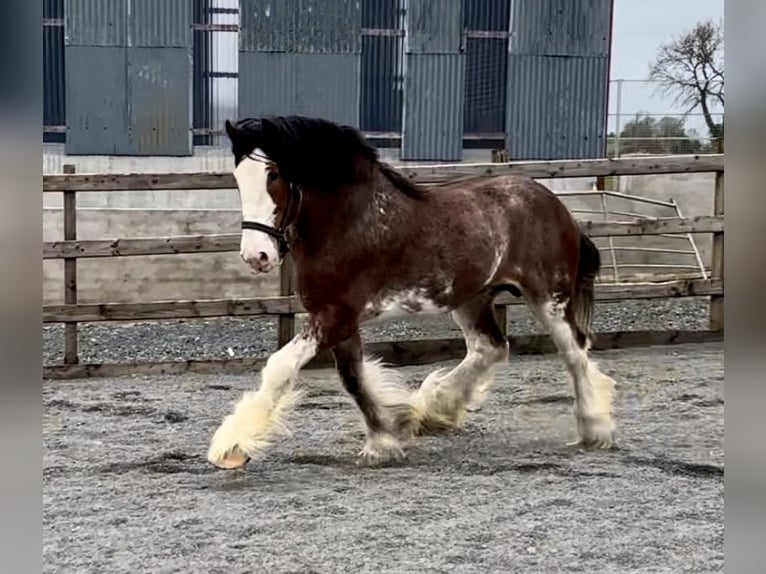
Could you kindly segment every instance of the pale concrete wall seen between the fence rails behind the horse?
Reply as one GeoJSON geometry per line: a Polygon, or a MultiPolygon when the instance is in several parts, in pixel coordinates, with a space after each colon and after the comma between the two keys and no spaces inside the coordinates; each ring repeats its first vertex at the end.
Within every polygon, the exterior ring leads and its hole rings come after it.
{"type": "MultiPolygon", "coordinates": [[[[228,150],[211,150],[194,158],[63,158],[54,149],[44,156],[46,173],[60,173],[63,163],[74,163],[78,172],[223,171],[228,150]]],[[[489,161],[489,152],[469,150],[469,161],[489,161]]],[[[390,155],[390,154],[389,154],[390,155]]],[[[387,158],[398,161],[396,158],[387,158]]],[[[557,191],[591,189],[594,178],[541,180],[557,191]]],[[[667,200],[675,198],[684,215],[706,215],[713,211],[712,174],[623,177],[619,189],[626,193],[667,200]]],[[[598,201],[565,198],[570,209],[600,209],[598,201]]],[[[647,204],[611,200],[610,209],[653,216],[673,216],[668,209],[647,204]]],[[[236,190],[152,191],[78,194],[78,237],[81,239],[137,238],[163,235],[237,233],[239,197],[236,190]]],[[[576,214],[579,219],[601,219],[576,214]]],[[[45,194],[43,240],[63,238],[61,194],[45,194]]],[[[710,265],[711,240],[698,236],[703,260],[710,265]]],[[[602,249],[606,239],[596,240],[602,249]]],[[[661,238],[616,238],[616,246],[640,245],[690,249],[688,242],[661,238]]],[[[678,263],[679,256],[647,256],[619,252],[621,263],[678,263]]],[[[684,256],[693,264],[693,256],[684,256]]],[[[611,257],[604,253],[609,268],[611,257]]],[[[63,302],[63,262],[43,262],[43,297],[46,304],[63,302]]],[[[78,262],[79,298],[87,302],[129,302],[168,299],[208,299],[274,296],[279,278],[254,276],[237,253],[161,255],[90,259],[78,262]]]]}

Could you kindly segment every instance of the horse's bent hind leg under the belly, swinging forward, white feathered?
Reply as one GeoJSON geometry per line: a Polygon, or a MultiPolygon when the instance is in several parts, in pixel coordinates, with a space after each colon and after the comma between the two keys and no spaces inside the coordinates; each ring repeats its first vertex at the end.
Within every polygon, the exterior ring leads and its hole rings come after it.
{"type": "Polygon", "coordinates": [[[416,433],[459,427],[492,387],[497,363],[508,358],[508,341],[494,313],[494,297],[483,293],[452,312],[465,337],[466,356],[451,371],[428,375],[413,398],[416,433]]]}

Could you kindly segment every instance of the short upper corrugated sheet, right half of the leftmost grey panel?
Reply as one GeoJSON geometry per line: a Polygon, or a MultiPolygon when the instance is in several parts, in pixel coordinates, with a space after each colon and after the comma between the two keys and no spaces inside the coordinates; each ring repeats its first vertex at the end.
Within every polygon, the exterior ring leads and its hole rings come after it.
{"type": "Polygon", "coordinates": [[[192,8],[189,0],[130,0],[129,45],[190,47],[192,8]]]}

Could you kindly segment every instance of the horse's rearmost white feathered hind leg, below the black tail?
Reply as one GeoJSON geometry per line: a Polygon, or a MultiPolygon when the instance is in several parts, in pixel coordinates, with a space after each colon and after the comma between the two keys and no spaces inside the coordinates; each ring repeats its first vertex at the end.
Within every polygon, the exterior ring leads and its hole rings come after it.
{"type": "Polygon", "coordinates": [[[588,337],[575,320],[571,299],[551,298],[530,304],[548,330],[574,382],[578,440],[572,444],[609,448],[614,441],[614,380],[588,357],[588,337]]]}

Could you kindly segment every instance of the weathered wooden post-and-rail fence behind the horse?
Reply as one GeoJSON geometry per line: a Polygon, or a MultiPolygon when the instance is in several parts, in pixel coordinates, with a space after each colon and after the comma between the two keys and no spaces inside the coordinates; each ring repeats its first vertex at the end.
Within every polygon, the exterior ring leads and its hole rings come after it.
{"type": "MultiPolygon", "coordinates": [[[[511,162],[403,166],[400,171],[419,183],[441,182],[470,175],[515,174],[546,179],[604,177],[671,173],[713,172],[715,211],[711,216],[658,218],[641,221],[581,222],[591,237],[711,233],[712,274],[708,279],[685,278],[641,284],[598,284],[598,301],[654,299],[667,297],[710,297],[710,324],[706,331],[627,331],[599,333],[596,349],[720,340],[723,337],[723,154],[701,156],[641,157],[550,162],[511,162]]],[[[295,332],[295,315],[303,308],[295,296],[289,257],[281,268],[279,297],[213,299],[201,301],[153,301],[142,303],[80,304],[77,302],[77,260],[96,257],[129,257],[182,253],[213,253],[239,250],[239,234],[210,234],[140,239],[77,239],[77,193],[145,190],[210,190],[236,187],[230,173],[64,174],[43,177],[44,192],[64,195],[64,239],[43,243],[43,259],[64,260],[64,304],[44,305],[43,323],[65,324],[63,365],[44,366],[46,378],[118,376],[129,373],[243,372],[258,367],[263,359],[178,361],[166,363],[80,364],[78,323],[96,321],[146,321],[204,317],[271,315],[279,317],[278,343],[283,345],[295,332]]],[[[498,299],[498,312],[505,318],[506,305],[518,304],[512,297],[498,299]]],[[[505,324],[504,321],[502,321],[505,324]]],[[[514,337],[516,352],[548,352],[547,336],[514,337]]],[[[368,345],[370,352],[395,364],[415,364],[459,357],[462,339],[390,341],[368,345]]],[[[310,366],[327,365],[327,354],[310,366]]]]}

